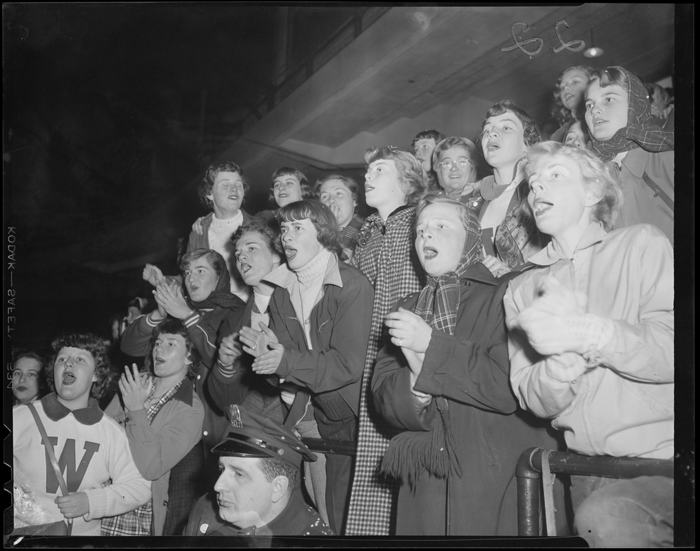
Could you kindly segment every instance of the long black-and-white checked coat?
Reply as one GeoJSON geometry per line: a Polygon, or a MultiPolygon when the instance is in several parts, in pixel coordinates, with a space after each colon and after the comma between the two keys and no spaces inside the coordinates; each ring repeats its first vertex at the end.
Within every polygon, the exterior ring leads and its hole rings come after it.
{"type": "Polygon", "coordinates": [[[379,475],[379,464],[391,436],[397,433],[384,419],[367,410],[371,399],[372,371],[386,332],[384,319],[391,308],[423,286],[423,269],[414,249],[415,207],[402,207],[382,221],[379,214],[367,218],[351,265],[374,285],[370,341],[360,391],[360,429],[355,475],[345,534],[387,536],[395,526],[395,501],[399,482],[379,475]],[[369,391],[369,392],[368,392],[369,391]]]}

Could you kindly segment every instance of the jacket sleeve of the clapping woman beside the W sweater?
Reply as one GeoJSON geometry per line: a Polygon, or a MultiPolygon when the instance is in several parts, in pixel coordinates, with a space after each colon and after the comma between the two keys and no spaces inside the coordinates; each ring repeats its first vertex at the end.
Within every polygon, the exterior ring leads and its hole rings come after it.
{"type": "Polygon", "coordinates": [[[168,421],[156,430],[148,423],[145,409],[127,413],[126,431],[134,463],[148,480],[165,475],[202,438],[204,407],[198,398],[193,398],[191,407],[170,400],[158,415],[168,416],[168,421]]]}

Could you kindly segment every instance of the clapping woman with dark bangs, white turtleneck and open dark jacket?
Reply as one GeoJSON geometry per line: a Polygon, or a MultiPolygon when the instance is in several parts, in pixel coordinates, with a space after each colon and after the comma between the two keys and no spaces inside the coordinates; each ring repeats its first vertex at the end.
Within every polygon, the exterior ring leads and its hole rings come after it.
{"type": "MultiPolygon", "coordinates": [[[[372,285],[339,260],[340,232],[323,203],[290,203],[277,220],[287,263],[264,278],[276,286],[269,329],[242,328],[243,351],[255,356],[253,372],[281,383],[286,426],[302,436],[356,442],[372,285]]],[[[352,468],[351,457],[327,454],[325,473],[312,479],[317,508],[325,501],[335,533],[344,526],[352,468]],[[318,491],[323,484],[325,492],[318,491]]]]}

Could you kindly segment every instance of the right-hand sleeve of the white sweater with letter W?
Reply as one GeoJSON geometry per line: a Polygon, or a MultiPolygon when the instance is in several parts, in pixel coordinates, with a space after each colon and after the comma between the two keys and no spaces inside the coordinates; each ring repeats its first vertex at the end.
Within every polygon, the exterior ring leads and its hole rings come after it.
{"type": "Polygon", "coordinates": [[[85,490],[90,506],[90,512],[83,517],[85,521],[121,515],[144,505],[151,498],[151,482],[141,476],[134,464],[126,435],[118,425],[109,423],[102,445],[108,447],[112,483],[85,490]]]}

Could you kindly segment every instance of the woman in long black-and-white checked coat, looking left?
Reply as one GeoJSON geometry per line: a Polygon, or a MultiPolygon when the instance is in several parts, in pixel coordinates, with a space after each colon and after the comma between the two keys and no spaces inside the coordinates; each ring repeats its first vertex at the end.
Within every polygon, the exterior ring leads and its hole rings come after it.
{"type": "Polygon", "coordinates": [[[365,153],[365,199],[376,214],[367,218],[351,265],[374,285],[370,341],[360,393],[360,428],[350,510],[348,536],[388,536],[393,533],[398,484],[379,474],[391,435],[395,432],[377,415],[367,392],[377,352],[381,347],[384,318],[407,293],[421,288],[421,265],[413,249],[415,207],[423,190],[421,163],[393,146],[365,153]]]}

